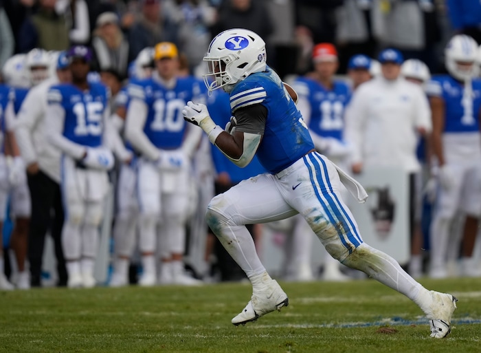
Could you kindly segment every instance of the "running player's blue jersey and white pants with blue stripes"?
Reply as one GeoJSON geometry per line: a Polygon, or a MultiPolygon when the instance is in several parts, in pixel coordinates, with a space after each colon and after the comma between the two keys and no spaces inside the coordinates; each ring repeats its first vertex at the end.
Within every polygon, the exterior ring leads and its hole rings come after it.
{"type": "MultiPolygon", "coordinates": [[[[234,86],[230,104],[236,117],[242,108],[253,105],[267,109],[265,125],[259,127],[258,122],[239,117],[236,131],[262,134],[256,154],[269,173],[240,182],[214,197],[208,209],[236,225],[271,222],[301,213],[331,255],[345,259],[362,239],[340,196],[339,173],[332,162],[314,151],[309,130],[279,76],[269,68],[251,74],[234,86]]],[[[349,177],[342,175],[346,182],[349,177]]],[[[353,180],[347,183],[352,190],[353,180]]],[[[358,198],[365,197],[363,192],[358,198]]]]}

